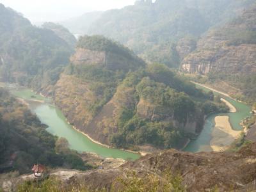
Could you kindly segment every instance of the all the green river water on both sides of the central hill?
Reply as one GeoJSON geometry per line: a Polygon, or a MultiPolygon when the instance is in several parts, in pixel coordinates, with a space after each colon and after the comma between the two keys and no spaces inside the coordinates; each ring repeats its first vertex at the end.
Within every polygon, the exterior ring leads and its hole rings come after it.
{"type": "MultiPolygon", "coordinates": [[[[198,88],[201,88],[207,92],[209,90],[203,86],[196,85],[198,88]]],[[[107,148],[94,143],[89,138],[77,132],[68,124],[67,120],[60,109],[56,108],[51,104],[50,99],[45,99],[41,95],[31,92],[29,89],[11,89],[11,92],[16,97],[25,99],[29,103],[29,107],[43,124],[48,125],[47,131],[51,132],[58,137],[66,138],[70,144],[70,148],[77,150],[79,152],[93,152],[98,154],[101,157],[113,157],[113,158],[122,158],[122,159],[138,159],[139,154],[132,152],[127,152],[124,150],[118,150],[115,148],[107,148]],[[44,101],[44,103],[36,102],[35,100],[44,101]]],[[[214,94],[220,94],[214,92],[214,94]]],[[[247,116],[250,116],[250,107],[246,106],[241,102],[238,102],[225,95],[221,95],[224,99],[228,100],[236,109],[236,113],[227,113],[227,114],[213,114],[207,117],[205,120],[204,129],[198,136],[196,140],[193,140],[189,145],[184,149],[188,152],[200,152],[200,151],[211,151],[210,141],[211,133],[214,129],[214,118],[219,115],[228,115],[230,117],[230,124],[234,130],[241,130],[242,127],[239,125],[241,120],[247,116]]]]}

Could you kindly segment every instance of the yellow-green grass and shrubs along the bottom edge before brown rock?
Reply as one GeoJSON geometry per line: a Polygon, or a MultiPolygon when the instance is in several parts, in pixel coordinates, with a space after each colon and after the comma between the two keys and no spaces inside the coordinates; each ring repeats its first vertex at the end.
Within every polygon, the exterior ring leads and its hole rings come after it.
{"type": "Polygon", "coordinates": [[[124,191],[124,192],[156,192],[156,191],[171,191],[171,192],[185,192],[186,188],[182,186],[182,177],[180,175],[164,174],[159,177],[154,173],[150,173],[145,177],[140,177],[136,172],[129,172],[125,174],[126,177],[118,177],[113,181],[111,188],[92,189],[88,184],[81,182],[72,182],[64,184],[58,177],[50,177],[43,182],[37,184],[33,181],[27,181],[20,184],[19,192],[44,192],[44,191],[81,191],[81,192],[103,192],[103,191],[124,191]]]}

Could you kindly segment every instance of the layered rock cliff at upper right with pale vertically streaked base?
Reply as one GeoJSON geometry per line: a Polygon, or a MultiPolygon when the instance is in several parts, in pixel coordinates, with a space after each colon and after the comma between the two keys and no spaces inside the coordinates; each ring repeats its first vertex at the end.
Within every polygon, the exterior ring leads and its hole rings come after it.
{"type": "Polygon", "coordinates": [[[224,26],[212,29],[182,61],[184,72],[208,74],[256,72],[256,6],[224,26]]]}

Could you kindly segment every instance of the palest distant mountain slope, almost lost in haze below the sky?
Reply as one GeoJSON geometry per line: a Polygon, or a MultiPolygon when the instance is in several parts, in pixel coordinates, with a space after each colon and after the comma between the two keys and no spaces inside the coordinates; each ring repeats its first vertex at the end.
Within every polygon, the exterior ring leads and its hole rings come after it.
{"type": "Polygon", "coordinates": [[[60,21],[60,24],[68,28],[75,35],[86,35],[90,25],[99,19],[103,12],[88,12],[79,17],[60,21]]]}

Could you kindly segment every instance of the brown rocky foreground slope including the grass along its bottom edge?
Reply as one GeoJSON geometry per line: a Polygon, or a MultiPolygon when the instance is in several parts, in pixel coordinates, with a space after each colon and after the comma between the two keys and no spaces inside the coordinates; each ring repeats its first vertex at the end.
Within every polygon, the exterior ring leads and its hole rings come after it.
{"type": "Polygon", "coordinates": [[[36,191],[38,188],[52,191],[255,191],[255,152],[252,143],[239,152],[201,152],[191,154],[166,150],[141,157],[120,168],[78,172],[53,170],[51,179],[38,186],[31,175],[0,180],[7,190],[36,191]],[[55,177],[54,177],[55,176],[55,177]],[[57,179],[54,179],[56,178],[57,179]],[[59,179],[59,180],[58,180],[59,179]],[[11,183],[9,186],[6,183],[11,183]],[[4,185],[5,184],[5,185],[4,185]],[[54,190],[55,189],[55,190],[54,190]]]}

